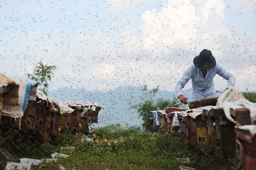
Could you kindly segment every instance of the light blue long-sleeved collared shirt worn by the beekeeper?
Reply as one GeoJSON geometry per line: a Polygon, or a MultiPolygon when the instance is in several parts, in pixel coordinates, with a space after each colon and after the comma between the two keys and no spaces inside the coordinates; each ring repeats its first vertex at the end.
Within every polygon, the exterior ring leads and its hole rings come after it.
{"type": "Polygon", "coordinates": [[[192,100],[200,100],[205,98],[217,97],[216,90],[214,88],[213,78],[218,74],[224,79],[228,80],[228,85],[226,88],[231,88],[235,85],[236,78],[233,74],[225,70],[219,64],[216,64],[214,68],[208,69],[205,78],[202,72],[194,64],[189,66],[184,72],[180,80],[177,82],[175,91],[177,96],[183,95],[182,89],[187,84],[187,82],[192,80],[192,100]]]}

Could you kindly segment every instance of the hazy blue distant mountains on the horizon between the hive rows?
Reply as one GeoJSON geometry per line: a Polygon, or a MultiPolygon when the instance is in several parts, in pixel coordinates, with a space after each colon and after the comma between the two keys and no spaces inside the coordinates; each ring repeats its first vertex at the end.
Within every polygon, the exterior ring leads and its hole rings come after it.
{"type": "MultiPolygon", "coordinates": [[[[141,102],[143,96],[143,86],[119,86],[113,91],[87,91],[85,89],[60,88],[54,92],[48,92],[48,96],[62,101],[91,101],[98,103],[98,106],[104,107],[100,110],[98,118],[99,123],[95,126],[105,126],[108,124],[120,123],[123,126],[134,126],[142,123],[138,111],[133,108],[141,102]]],[[[184,91],[185,94],[191,94],[191,90],[184,91]],[[189,92],[190,91],[190,92],[189,92]]],[[[156,99],[163,98],[173,100],[175,92],[159,90],[156,93],[156,99]]],[[[186,95],[191,98],[191,95],[186,95]]],[[[184,105],[184,108],[187,106],[184,105]]]]}

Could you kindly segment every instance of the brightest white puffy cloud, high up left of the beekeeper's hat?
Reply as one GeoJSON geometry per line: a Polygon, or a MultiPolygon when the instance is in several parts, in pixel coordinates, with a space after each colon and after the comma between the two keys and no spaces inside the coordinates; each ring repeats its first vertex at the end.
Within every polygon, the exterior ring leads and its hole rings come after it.
{"type": "Polygon", "coordinates": [[[144,48],[156,53],[166,53],[175,43],[189,43],[196,34],[198,17],[193,6],[180,4],[165,6],[160,12],[148,10],[143,15],[142,30],[144,34],[144,48]]]}

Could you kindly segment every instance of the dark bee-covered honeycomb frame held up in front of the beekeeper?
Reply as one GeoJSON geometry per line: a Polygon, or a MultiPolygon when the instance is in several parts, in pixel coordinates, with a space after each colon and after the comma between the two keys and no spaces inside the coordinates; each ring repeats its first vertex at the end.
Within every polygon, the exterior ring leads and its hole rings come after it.
{"type": "Polygon", "coordinates": [[[188,107],[190,109],[196,109],[196,108],[204,107],[204,106],[216,106],[218,98],[219,97],[201,99],[201,100],[196,100],[193,102],[188,102],[188,107]]]}

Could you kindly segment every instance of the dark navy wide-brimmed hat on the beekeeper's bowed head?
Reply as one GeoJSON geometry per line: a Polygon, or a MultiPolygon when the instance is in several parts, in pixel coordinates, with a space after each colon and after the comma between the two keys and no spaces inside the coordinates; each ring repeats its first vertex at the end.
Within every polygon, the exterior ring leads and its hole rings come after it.
{"type": "Polygon", "coordinates": [[[212,51],[203,49],[193,60],[194,65],[199,69],[210,69],[216,66],[216,60],[212,51]]]}

